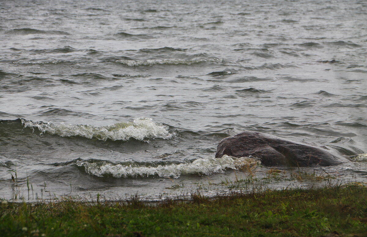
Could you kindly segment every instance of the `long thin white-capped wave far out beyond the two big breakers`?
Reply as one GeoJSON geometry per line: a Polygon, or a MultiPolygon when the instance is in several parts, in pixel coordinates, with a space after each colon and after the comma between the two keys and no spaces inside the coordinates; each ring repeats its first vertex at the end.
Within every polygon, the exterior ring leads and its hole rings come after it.
{"type": "Polygon", "coordinates": [[[126,59],[117,59],[113,60],[114,63],[121,63],[123,65],[129,67],[139,67],[139,66],[153,66],[156,64],[164,64],[164,65],[192,65],[198,63],[223,63],[223,59],[197,59],[197,60],[181,60],[181,59],[148,59],[148,60],[126,60],[126,59]]]}

